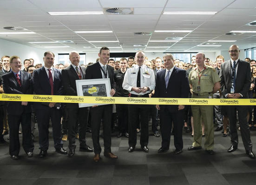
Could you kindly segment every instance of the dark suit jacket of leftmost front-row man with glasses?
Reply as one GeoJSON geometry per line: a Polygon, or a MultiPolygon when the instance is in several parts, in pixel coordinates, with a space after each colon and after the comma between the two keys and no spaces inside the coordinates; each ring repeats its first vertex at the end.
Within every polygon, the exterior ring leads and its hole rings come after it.
{"type": "MultiPolygon", "coordinates": [[[[2,75],[3,89],[9,94],[33,94],[33,85],[31,74],[20,71],[21,86],[12,71],[2,75]]],[[[31,112],[31,105],[23,106],[20,101],[9,101],[7,103],[8,115],[21,115],[31,112]]]]}

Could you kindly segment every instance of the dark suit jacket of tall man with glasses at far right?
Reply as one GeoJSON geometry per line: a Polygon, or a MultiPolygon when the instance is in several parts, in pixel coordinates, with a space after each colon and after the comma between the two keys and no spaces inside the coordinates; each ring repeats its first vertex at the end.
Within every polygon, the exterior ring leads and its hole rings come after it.
{"type": "MultiPolygon", "coordinates": [[[[230,60],[223,62],[220,68],[220,78],[221,78],[221,91],[223,98],[225,95],[230,93],[231,89],[231,66],[230,60]]],[[[236,86],[235,93],[241,93],[243,98],[248,98],[248,92],[251,84],[251,73],[250,73],[250,63],[242,60],[238,60],[237,72],[236,72],[236,86]]]]}

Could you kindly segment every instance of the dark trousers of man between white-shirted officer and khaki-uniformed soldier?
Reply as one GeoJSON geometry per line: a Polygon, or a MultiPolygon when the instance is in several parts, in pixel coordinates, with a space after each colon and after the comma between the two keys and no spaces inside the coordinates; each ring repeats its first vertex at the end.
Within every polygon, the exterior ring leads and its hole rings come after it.
{"type": "Polygon", "coordinates": [[[171,139],[171,127],[173,123],[174,146],[177,150],[182,150],[182,129],[184,123],[184,110],[170,112],[167,108],[160,109],[162,148],[169,149],[171,139]],[[162,110],[163,109],[163,110],[162,110]]]}

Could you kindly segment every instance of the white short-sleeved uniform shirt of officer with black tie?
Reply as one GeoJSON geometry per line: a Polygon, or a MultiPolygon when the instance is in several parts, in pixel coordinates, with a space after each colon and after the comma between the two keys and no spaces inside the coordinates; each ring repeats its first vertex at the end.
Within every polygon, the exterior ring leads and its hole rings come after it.
{"type": "Polygon", "coordinates": [[[155,74],[151,68],[148,68],[145,65],[140,66],[140,87],[149,87],[150,90],[146,93],[136,93],[135,91],[131,91],[132,87],[137,87],[138,70],[138,65],[127,69],[124,77],[123,88],[131,94],[143,95],[150,93],[156,86],[155,74]]]}

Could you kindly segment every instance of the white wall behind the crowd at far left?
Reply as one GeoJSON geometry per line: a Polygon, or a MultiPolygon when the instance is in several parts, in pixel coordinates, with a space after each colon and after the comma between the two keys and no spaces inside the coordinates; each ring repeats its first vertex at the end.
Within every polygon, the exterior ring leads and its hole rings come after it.
{"type": "Polygon", "coordinates": [[[14,43],[4,39],[0,39],[0,57],[7,56],[19,56],[21,62],[25,59],[33,58],[35,64],[43,63],[43,56],[46,50],[38,49],[30,46],[26,46],[20,43],[14,43]]]}

